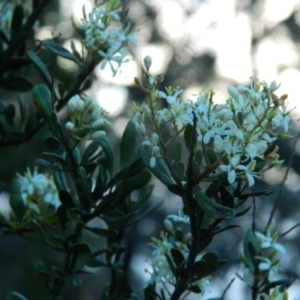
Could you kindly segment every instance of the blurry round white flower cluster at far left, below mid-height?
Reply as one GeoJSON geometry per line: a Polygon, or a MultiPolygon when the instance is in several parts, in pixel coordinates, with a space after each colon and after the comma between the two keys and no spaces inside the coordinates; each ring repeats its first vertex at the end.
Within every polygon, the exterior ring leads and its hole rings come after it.
{"type": "Polygon", "coordinates": [[[36,213],[45,211],[48,205],[57,209],[60,206],[58,190],[53,177],[47,174],[33,173],[27,169],[24,176],[17,174],[21,197],[26,206],[36,213]]]}

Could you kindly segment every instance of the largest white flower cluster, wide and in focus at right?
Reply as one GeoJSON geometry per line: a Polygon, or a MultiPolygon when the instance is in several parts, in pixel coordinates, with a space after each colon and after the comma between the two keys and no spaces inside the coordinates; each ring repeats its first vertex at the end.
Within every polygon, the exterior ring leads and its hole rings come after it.
{"type": "Polygon", "coordinates": [[[195,125],[197,141],[204,153],[202,170],[208,174],[206,181],[215,180],[216,174],[227,173],[229,184],[242,179],[252,186],[255,177],[282,164],[278,147],[265,154],[277,138],[290,137],[286,134],[291,119],[285,101],[287,96],[274,94],[279,88],[274,81],[268,85],[253,80],[250,88],[231,86],[226,103],[216,104],[212,91],[200,93],[196,101],[183,101],[178,87],[168,87],[165,92],[156,89],[161,75],[146,72],[146,78],[148,88],[136,80],[149,95],[148,104],[132,105],[137,131],[149,140],[144,125],[148,118],[151,130],[159,136],[156,146],[161,147],[173,141],[188,124],[195,125]],[[164,141],[162,130],[168,125],[172,126],[173,136],[164,141]],[[278,133],[278,128],[284,133],[278,133]],[[205,155],[209,149],[216,157],[214,163],[205,155]]]}

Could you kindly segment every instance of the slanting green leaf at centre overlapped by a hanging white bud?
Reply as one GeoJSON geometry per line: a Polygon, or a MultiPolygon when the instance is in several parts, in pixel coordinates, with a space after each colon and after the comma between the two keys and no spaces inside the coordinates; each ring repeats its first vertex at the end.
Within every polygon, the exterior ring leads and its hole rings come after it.
{"type": "Polygon", "coordinates": [[[144,144],[141,144],[139,146],[139,152],[140,152],[140,155],[141,155],[145,165],[157,177],[157,179],[160,180],[166,186],[174,184],[175,182],[173,181],[173,179],[168,171],[168,168],[162,158],[156,159],[156,166],[154,168],[152,168],[150,166],[151,156],[149,153],[151,153],[151,150],[152,150],[151,146],[144,145],[144,144]]]}

